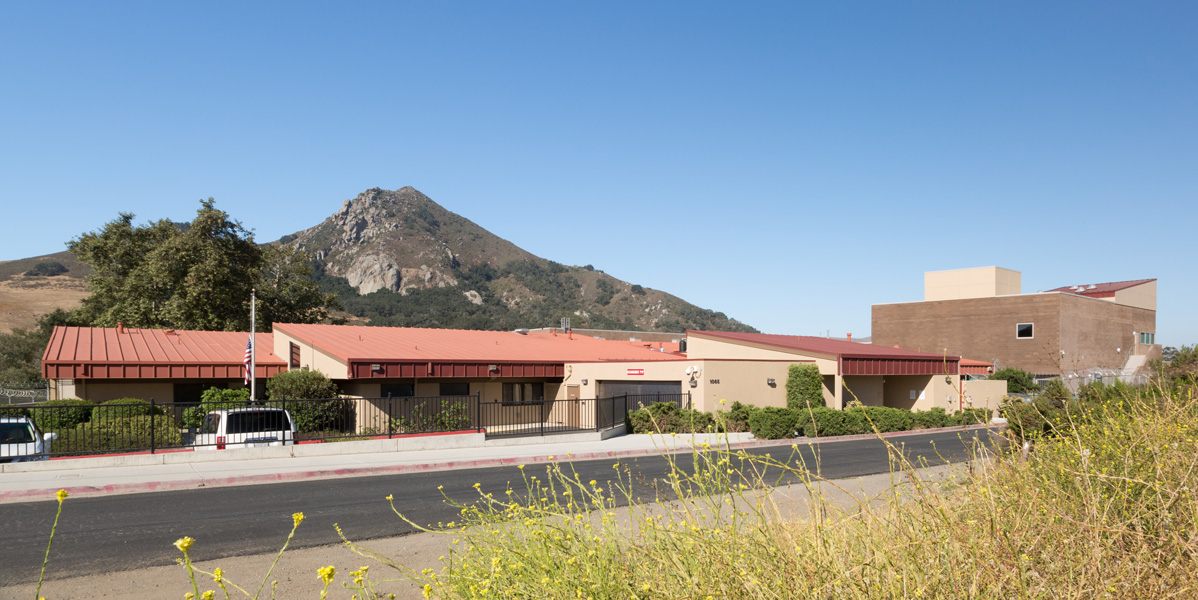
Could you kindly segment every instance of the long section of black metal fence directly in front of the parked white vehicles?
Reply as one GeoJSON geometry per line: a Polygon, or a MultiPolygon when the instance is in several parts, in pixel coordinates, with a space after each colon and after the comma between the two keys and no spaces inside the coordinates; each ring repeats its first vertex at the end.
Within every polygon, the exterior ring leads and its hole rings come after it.
{"type": "MultiPolygon", "coordinates": [[[[0,405],[53,434],[40,456],[0,460],[228,449],[393,438],[477,429],[479,398],[333,398],[248,402],[105,402],[0,405]]],[[[0,440],[4,442],[4,440],[0,440]]],[[[30,451],[25,447],[22,451],[30,451]]]]}

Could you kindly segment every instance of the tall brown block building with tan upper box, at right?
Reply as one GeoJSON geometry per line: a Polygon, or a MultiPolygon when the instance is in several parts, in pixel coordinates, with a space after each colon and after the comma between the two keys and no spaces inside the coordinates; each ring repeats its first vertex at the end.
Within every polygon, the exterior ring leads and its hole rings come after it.
{"type": "Polygon", "coordinates": [[[873,305],[875,344],[1066,378],[1130,376],[1160,356],[1155,279],[1021,293],[1018,272],[984,267],[924,281],[924,302],[873,305]]]}

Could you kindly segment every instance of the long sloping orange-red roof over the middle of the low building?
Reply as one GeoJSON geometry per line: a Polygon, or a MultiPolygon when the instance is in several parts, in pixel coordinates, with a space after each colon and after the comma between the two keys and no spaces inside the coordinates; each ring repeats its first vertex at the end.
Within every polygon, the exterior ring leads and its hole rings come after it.
{"type": "Polygon", "coordinates": [[[678,360],[683,354],[615,341],[545,332],[520,334],[470,329],[274,323],[345,362],[599,363],[678,360]]]}

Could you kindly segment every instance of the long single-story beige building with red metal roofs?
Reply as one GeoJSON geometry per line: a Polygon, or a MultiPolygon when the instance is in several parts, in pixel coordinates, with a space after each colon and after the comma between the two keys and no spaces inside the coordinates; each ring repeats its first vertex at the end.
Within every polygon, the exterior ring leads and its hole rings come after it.
{"type": "MultiPolygon", "coordinates": [[[[247,337],[59,327],[43,374],[53,381],[54,398],[198,401],[208,387],[243,384],[247,337]]],[[[825,404],[835,408],[857,399],[867,406],[956,411],[994,407],[1005,394],[1005,382],[968,382],[963,389],[955,356],[800,335],[690,331],[685,352],[672,340],[611,340],[556,329],[274,323],[273,333],[256,339],[259,380],[311,369],[346,396],[380,405],[388,398],[473,396],[488,406],[518,406],[636,395],[646,404],[689,398],[701,411],[726,407],[721,400],[786,406],[789,365],[801,363],[819,369],[825,404]]]]}

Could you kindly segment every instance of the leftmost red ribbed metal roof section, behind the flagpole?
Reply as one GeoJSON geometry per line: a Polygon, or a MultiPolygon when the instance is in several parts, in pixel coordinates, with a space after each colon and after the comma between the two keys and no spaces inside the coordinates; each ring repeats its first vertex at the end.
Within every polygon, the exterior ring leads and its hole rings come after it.
{"type": "MultiPolygon", "coordinates": [[[[113,327],[55,327],[42,353],[47,378],[236,378],[246,356],[246,332],[193,332],[113,327]]],[[[256,334],[256,375],[286,366],[274,338],[256,334]]]]}

